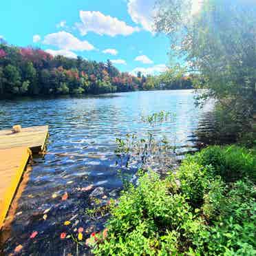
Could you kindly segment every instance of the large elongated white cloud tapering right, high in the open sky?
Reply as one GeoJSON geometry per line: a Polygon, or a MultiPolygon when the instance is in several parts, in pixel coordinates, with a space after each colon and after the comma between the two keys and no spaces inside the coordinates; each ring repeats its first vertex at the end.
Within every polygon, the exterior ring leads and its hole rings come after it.
{"type": "Polygon", "coordinates": [[[108,36],[116,36],[121,34],[129,36],[134,32],[138,32],[139,28],[131,27],[124,21],[120,21],[114,17],[106,16],[101,12],[80,11],[80,18],[82,23],[76,23],[76,27],[84,36],[87,32],[94,32],[96,34],[106,34],[108,36]]]}

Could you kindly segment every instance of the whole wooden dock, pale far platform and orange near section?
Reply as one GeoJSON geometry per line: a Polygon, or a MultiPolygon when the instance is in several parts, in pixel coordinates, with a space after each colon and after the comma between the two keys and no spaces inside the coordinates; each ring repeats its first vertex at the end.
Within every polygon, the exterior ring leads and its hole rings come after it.
{"type": "Polygon", "coordinates": [[[0,131],[0,229],[30,156],[44,150],[47,136],[47,126],[0,131]]]}

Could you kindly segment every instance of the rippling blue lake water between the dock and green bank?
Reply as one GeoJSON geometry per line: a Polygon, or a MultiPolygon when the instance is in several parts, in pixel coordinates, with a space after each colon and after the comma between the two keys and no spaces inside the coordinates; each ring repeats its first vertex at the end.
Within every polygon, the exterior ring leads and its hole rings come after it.
{"type": "MultiPolygon", "coordinates": [[[[23,99],[0,101],[0,128],[14,124],[23,127],[49,125],[50,138],[44,158],[34,158],[30,180],[25,187],[12,224],[12,233],[3,245],[4,254],[21,244],[23,255],[83,255],[86,246],[70,239],[60,239],[62,232],[84,237],[99,231],[107,216],[89,216],[86,209],[95,204],[89,196],[98,189],[100,202],[117,198],[122,187],[122,174],[136,173],[140,162],[120,167],[114,153],[116,138],[127,133],[145,136],[151,131],[156,138],[167,136],[178,153],[196,150],[194,132],[200,120],[211,111],[195,107],[192,90],[129,92],[87,98],[23,99]],[[169,122],[151,127],[141,121],[142,115],[161,110],[175,114],[169,122]],[[85,187],[94,185],[91,191],[85,187]],[[66,193],[68,199],[61,196],[66,193]],[[54,195],[54,196],[53,196],[54,195]],[[47,212],[43,220],[43,212],[47,212]],[[72,224],[64,226],[70,220],[72,224]],[[38,235],[30,239],[33,231],[38,235]]],[[[97,194],[97,193],[96,193],[97,194]]]]}

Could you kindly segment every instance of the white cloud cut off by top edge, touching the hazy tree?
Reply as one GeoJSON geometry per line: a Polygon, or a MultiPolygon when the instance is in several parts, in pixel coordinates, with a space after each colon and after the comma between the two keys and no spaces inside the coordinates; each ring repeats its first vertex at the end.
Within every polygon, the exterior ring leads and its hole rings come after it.
{"type": "Polygon", "coordinates": [[[131,19],[142,28],[153,33],[153,17],[156,0],[128,0],[127,7],[131,19]]]}

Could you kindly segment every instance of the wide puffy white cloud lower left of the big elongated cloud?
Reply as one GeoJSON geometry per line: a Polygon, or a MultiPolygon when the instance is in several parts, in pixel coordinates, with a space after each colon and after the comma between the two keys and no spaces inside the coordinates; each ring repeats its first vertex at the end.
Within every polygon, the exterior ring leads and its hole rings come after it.
{"type": "Polygon", "coordinates": [[[43,43],[45,45],[54,45],[62,50],[91,51],[95,49],[94,45],[87,41],[81,41],[65,31],[47,34],[43,43]]]}

